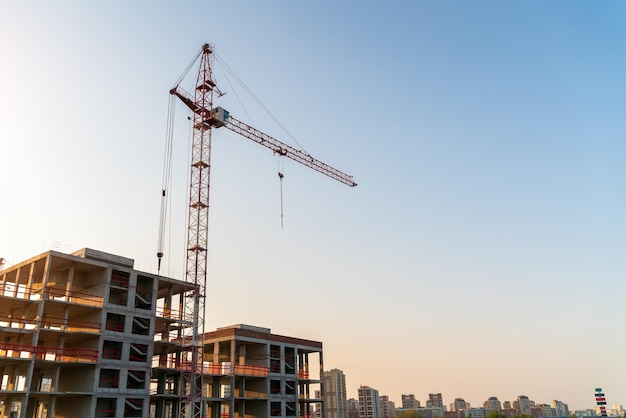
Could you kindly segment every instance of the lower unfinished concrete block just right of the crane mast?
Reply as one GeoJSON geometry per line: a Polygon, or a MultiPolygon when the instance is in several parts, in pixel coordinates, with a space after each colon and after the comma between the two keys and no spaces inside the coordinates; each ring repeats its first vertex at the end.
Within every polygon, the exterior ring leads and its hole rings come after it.
{"type": "Polygon", "coordinates": [[[321,342],[238,324],[205,333],[204,347],[207,417],[325,418],[321,342]]]}

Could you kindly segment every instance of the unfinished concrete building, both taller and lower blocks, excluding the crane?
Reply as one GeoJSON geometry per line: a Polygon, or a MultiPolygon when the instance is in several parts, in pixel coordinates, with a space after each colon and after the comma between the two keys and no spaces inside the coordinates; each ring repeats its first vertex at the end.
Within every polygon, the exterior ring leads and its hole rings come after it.
{"type": "MultiPolygon", "coordinates": [[[[0,418],[184,413],[190,284],[133,267],[83,249],[0,271],[0,418]]],[[[320,342],[248,325],[203,341],[203,416],[306,418],[323,406],[320,342]]]]}

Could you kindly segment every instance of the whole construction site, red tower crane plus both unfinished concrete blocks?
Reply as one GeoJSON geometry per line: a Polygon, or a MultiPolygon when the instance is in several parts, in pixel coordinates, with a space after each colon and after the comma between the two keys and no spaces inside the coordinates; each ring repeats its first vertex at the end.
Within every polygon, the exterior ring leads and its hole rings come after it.
{"type": "Polygon", "coordinates": [[[156,274],[89,248],[0,265],[0,418],[311,418],[315,411],[326,418],[321,342],[243,324],[205,330],[212,131],[225,127],[279,157],[356,183],[214,106],[223,93],[213,62],[213,47],[203,45],[170,90],[170,106],[182,102],[192,124],[184,278],[161,275],[170,118],[156,274]],[[188,93],[180,83],[195,64],[188,93]]]}

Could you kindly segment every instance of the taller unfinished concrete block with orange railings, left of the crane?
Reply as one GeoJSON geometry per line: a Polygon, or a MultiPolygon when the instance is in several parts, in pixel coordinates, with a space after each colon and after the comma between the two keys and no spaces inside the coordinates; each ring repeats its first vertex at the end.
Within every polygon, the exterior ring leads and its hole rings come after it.
{"type": "Polygon", "coordinates": [[[83,249],[0,272],[0,417],[148,416],[153,334],[185,286],[133,265],[83,249]]]}

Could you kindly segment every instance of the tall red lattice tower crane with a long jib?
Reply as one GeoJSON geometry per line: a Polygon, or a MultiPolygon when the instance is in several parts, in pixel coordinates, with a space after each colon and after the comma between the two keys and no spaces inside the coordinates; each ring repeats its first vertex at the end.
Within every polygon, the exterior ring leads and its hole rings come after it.
{"type": "MultiPolygon", "coordinates": [[[[182,327],[181,385],[179,416],[185,418],[204,417],[206,404],[203,398],[203,348],[204,348],[204,311],[205,289],[207,280],[208,214],[209,214],[209,178],[211,171],[211,135],[213,128],[226,127],[252,141],[263,145],[274,153],[288,157],[322,174],[340,181],[350,187],[357,184],[349,176],[313,157],[306,152],[293,148],[250,125],[241,122],[222,107],[214,107],[213,99],[222,93],[213,77],[213,46],[204,44],[185,73],[170,90],[172,97],[182,101],[193,114],[193,138],[191,152],[191,181],[187,226],[187,255],[185,281],[188,291],[181,302],[183,319],[190,321],[188,327],[182,327]],[[180,83],[193,64],[200,59],[194,93],[189,94],[180,87],[180,83]]],[[[165,200],[165,188],[162,199],[165,200]]],[[[163,208],[161,206],[161,231],[157,253],[160,270],[163,256],[163,208]]]]}

